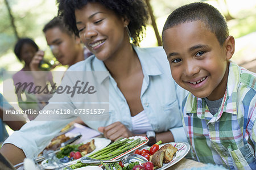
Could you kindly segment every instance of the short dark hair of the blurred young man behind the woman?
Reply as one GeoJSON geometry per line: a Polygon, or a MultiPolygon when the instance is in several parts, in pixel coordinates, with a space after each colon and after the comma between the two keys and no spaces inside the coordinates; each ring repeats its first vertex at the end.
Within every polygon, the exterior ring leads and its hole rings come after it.
{"type": "Polygon", "coordinates": [[[65,32],[67,33],[68,35],[72,36],[73,33],[71,31],[68,30],[67,27],[65,27],[65,24],[63,22],[63,19],[61,19],[60,17],[58,16],[55,16],[52,20],[50,20],[46,25],[44,25],[44,28],[43,28],[43,32],[46,33],[46,31],[48,29],[52,29],[52,28],[60,28],[60,30],[62,32],[65,32]]]}

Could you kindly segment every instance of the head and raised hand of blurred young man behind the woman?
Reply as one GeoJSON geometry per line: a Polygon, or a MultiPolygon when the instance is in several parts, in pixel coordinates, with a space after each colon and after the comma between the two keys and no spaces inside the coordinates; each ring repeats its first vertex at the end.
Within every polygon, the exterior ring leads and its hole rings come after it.
{"type": "MultiPolygon", "coordinates": [[[[63,20],[55,16],[43,28],[47,44],[51,46],[52,53],[61,65],[72,66],[82,61],[92,53],[81,44],[79,37],[65,27],[63,20]]],[[[43,59],[44,52],[39,50],[30,64],[31,70],[39,70],[38,64],[43,59]]]]}

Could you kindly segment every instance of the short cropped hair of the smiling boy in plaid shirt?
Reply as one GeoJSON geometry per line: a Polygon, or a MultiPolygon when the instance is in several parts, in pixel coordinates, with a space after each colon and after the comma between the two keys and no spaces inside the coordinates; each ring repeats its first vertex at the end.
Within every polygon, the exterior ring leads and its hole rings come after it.
{"type": "Polygon", "coordinates": [[[213,32],[220,45],[229,36],[228,25],[224,16],[208,3],[196,2],[181,6],[174,10],[167,18],[163,31],[176,25],[201,20],[213,32]]]}

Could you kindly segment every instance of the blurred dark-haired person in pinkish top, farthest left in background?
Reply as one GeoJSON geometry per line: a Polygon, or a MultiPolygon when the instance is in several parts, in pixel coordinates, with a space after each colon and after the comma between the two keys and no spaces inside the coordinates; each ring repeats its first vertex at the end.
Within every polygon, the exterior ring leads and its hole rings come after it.
{"type": "MultiPolygon", "coordinates": [[[[24,67],[17,73],[13,75],[13,82],[15,86],[16,95],[18,97],[19,107],[26,111],[27,109],[35,109],[35,110],[41,110],[45,102],[48,101],[51,95],[42,95],[42,96],[36,96],[33,93],[29,93],[28,90],[30,86],[26,87],[26,90],[23,92],[21,91],[22,88],[19,87],[19,83],[33,83],[32,89],[30,91],[33,91],[35,88],[35,79],[31,73],[31,67],[30,63],[32,62],[33,57],[35,56],[36,52],[38,52],[39,48],[38,45],[36,45],[35,41],[33,41],[30,38],[22,38],[19,39],[14,47],[14,53],[16,57],[19,59],[20,62],[24,62],[24,67]]],[[[50,84],[53,84],[53,78],[52,74],[49,71],[47,75],[45,75],[45,79],[50,84]]],[[[37,114],[28,114],[29,120],[34,120],[34,118],[37,116],[37,114]]]]}

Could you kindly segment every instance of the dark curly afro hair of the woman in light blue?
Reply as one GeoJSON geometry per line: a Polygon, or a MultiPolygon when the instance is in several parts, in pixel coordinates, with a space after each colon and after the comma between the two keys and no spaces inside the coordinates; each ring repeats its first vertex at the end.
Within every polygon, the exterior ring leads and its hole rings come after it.
{"type": "Polygon", "coordinates": [[[139,45],[149,17],[147,6],[143,0],[57,0],[58,15],[63,17],[64,23],[76,36],[79,36],[79,31],[76,27],[75,10],[81,9],[90,2],[101,3],[114,11],[117,16],[130,20],[128,28],[134,39],[133,44],[139,45]]]}

